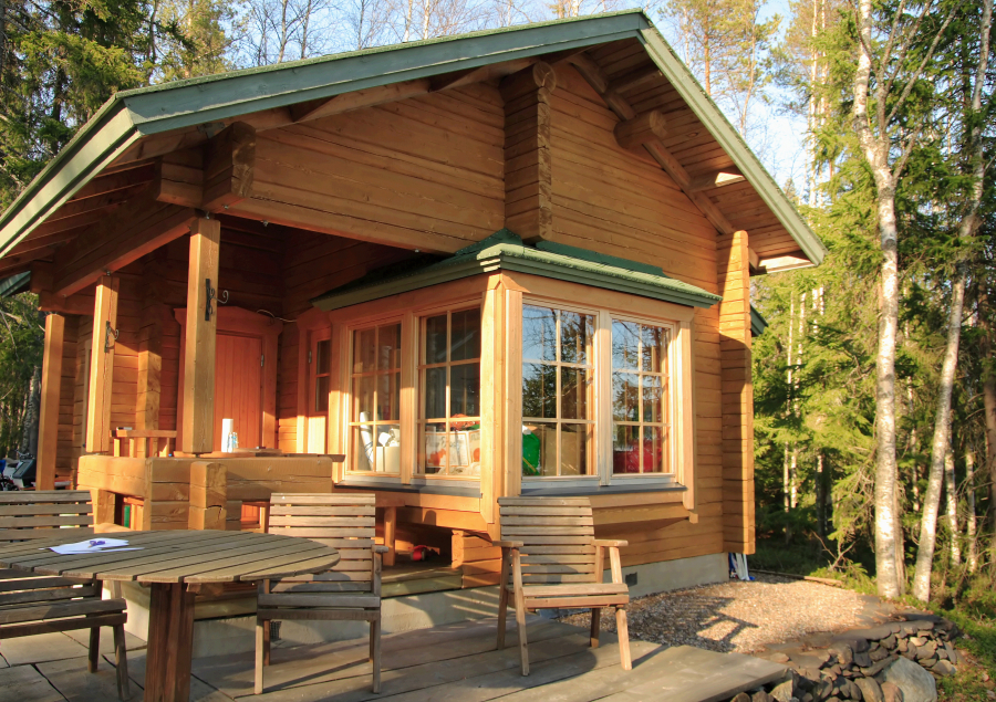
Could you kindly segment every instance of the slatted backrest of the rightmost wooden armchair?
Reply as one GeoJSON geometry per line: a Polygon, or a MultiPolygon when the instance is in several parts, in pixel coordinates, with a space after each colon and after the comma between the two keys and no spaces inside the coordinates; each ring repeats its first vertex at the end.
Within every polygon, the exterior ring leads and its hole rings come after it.
{"type": "Polygon", "coordinates": [[[593,583],[594,522],[588,497],[499,497],[502,541],[517,541],[525,585],[593,583]]]}

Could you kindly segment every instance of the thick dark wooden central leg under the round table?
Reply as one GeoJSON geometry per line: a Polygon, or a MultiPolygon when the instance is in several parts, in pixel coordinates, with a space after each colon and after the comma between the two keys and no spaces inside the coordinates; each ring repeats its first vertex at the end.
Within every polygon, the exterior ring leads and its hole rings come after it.
{"type": "Polygon", "coordinates": [[[187,702],[194,650],[194,593],[181,583],[154,583],[148,615],[145,700],[187,702]]]}

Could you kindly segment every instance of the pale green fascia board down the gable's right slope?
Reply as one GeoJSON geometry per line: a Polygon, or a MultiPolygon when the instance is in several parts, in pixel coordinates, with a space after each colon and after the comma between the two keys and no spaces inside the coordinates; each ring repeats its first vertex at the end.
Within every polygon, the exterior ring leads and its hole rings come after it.
{"type": "Polygon", "coordinates": [[[716,104],[706,95],[685,64],[674,54],[661,33],[655,28],[649,27],[640,31],[640,36],[651,60],[661,69],[678,95],[713,135],[713,138],[729,155],[740,172],[746,176],[765,205],[771,209],[781,226],[806,253],[806,258],[813,264],[821,263],[827,254],[827,248],[809,229],[795,206],[781,192],[767,169],[761,166],[757,156],[723,116],[716,104]]]}

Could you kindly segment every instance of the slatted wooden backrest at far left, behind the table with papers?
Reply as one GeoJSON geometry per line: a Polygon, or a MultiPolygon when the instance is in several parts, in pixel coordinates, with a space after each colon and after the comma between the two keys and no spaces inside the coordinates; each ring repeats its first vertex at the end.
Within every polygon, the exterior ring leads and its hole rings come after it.
{"type": "Polygon", "coordinates": [[[92,527],[87,490],[0,492],[0,544],[51,538],[56,528],[80,530],[84,537],[92,527]]]}

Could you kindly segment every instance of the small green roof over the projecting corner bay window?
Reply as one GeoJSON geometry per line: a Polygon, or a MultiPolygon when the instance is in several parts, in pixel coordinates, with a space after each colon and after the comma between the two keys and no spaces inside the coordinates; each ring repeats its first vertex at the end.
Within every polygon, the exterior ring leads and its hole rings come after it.
{"type": "Polygon", "coordinates": [[[663,270],[646,263],[546,241],[532,247],[522,243],[513,232],[501,229],[440,261],[405,262],[373,271],[357,281],[319,295],[311,304],[326,312],[341,310],[498,270],[530,273],[694,307],[710,307],[720,300],[719,295],[667,277],[663,270]]]}

